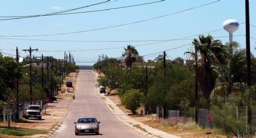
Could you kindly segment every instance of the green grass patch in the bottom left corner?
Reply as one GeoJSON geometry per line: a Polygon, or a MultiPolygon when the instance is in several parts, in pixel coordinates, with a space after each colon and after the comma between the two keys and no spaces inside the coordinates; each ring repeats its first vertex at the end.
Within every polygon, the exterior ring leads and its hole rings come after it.
{"type": "Polygon", "coordinates": [[[32,136],[34,134],[47,134],[47,130],[33,130],[27,128],[0,128],[0,133],[13,136],[32,136]]]}

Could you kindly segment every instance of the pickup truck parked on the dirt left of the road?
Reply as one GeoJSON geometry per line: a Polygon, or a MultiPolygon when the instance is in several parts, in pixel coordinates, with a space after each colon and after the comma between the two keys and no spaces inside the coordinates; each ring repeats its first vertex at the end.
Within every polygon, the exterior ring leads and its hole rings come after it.
{"type": "Polygon", "coordinates": [[[28,118],[38,118],[42,119],[42,109],[40,105],[30,105],[25,112],[25,119],[28,118]]]}

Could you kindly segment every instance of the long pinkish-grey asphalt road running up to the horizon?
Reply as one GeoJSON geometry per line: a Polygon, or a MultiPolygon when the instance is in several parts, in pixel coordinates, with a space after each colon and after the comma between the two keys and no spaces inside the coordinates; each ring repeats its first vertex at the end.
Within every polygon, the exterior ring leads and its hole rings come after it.
{"type": "Polygon", "coordinates": [[[77,91],[75,100],[70,104],[70,110],[63,124],[51,137],[145,137],[139,131],[120,122],[108,109],[102,98],[97,95],[97,74],[92,70],[80,70],[77,76],[77,91]],[[86,134],[75,136],[75,124],[79,117],[94,116],[101,121],[99,135],[86,134]]]}

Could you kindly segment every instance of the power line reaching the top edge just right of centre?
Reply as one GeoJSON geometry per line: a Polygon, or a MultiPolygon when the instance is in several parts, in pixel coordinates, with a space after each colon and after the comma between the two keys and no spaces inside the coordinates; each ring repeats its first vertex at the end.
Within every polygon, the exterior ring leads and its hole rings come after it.
{"type": "MultiPolygon", "coordinates": [[[[94,12],[98,12],[98,11],[117,10],[117,9],[120,9],[120,8],[137,7],[137,6],[148,5],[148,4],[154,4],[154,3],[163,2],[163,1],[166,1],[166,0],[160,0],[160,1],[154,1],[154,2],[147,2],[147,3],[143,3],[143,4],[136,4],[136,5],[128,5],[128,6],[123,6],[123,7],[105,8],[105,9],[101,9],[101,10],[81,11],[81,12],[75,12],[75,13],[50,14],[50,15],[48,15],[48,16],[60,16],[60,15],[68,15],[68,14],[94,13],[94,12]]],[[[0,16],[0,17],[1,17],[1,16],[0,16]]],[[[4,17],[26,17],[26,16],[4,16],[4,17]]]]}

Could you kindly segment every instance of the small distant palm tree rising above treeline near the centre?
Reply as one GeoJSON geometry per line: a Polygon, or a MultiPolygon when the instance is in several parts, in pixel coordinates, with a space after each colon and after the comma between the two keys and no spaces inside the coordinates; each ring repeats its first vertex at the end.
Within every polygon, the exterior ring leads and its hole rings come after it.
{"type": "Polygon", "coordinates": [[[126,68],[130,68],[133,65],[133,62],[136,61],[136,57],[139,55],[138,51],[135,49],[135,47],[128,45],[125,49],[125,52],[123,52],[122,56],[125,57],[125,63],[126,68]]]}

